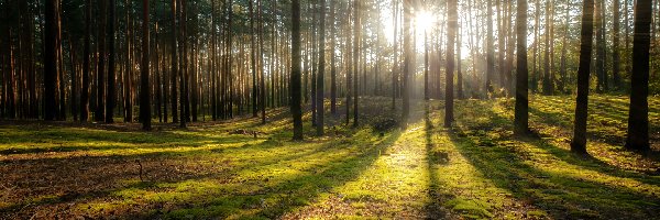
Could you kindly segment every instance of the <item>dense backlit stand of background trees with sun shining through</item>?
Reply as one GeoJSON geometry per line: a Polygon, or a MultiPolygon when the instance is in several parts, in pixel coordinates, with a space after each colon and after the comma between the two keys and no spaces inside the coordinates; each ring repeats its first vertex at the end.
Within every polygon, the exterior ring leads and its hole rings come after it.
{"type": "MultiPolygon", "coordinates": [[[[455,25],[464,25],[455,30],[449,14],[453,6],[446,2],[299,3],[300,85],[290,81],[290,2],[150,1],[145,15],[142,4],[128,0],[1,1],[0,8],[8,11],[2,19],[8,22],[0,24],[0,117],[78,120],[79,112],[81,121],[94,117],[111,123],[113,116],[123,112],[124,121],[133,122],[136,111],[142,116],[146,110],[141,102],[148,91],[150,117],[157,116],[162,122],[186,127],[261,112],[264,123],[268,110],[292,105],[294,87],[300,86],[302,100],[311,98],[300,103],[300,112],[315,112],[315,125],[321,122],[317,129],[323,129],[336,125],[324,119],[324,97],[330,98],[330,111],[338,120],[352,118],[356,125],[363,121],[359,98],[367,96],[391,97],[393,107],[400,103],[403,119],[420,97],[444,98],[450,118],[454,92],[459,98],[503,98],[513,94],[510,85],[519,79],[516,84],[527,82],[532,95],[538,86],[543,96],[580,90],[580,102],[585,97],[581,91],[632,91],[635,111],[645,106],[637,103],[637,97],[645,96],[638,89],[645,90],[648,84],[648,94],[658,94],[660,85],[654,80],[660,70],[653,62],[660,54],[652,46],[658,42],[656,34],[649,35],[649,48],[640,52],[650,52],[648,80],[632,72],[632,63],[639,61],[630,47],[631,18],[639,19],[641,12],[634,12],[634,2],[628,0],[594,2],[595,59],[583,61],[590,65],[586,80],[593,76],[597,81],[593,88],[584,87],[580,77],[586,72],[578,74],[580,56],[586,54],[578,50],[581,33],[574,24],[583,12],[570,1],[535,0],[527,6],[537,12],[531,20],[522,19],[522,31],[534,32],[529,36],[512,29],[512,16],[524,11],[509,1],[457,2],[455,25]],[[323,11],[332,12],[328,22],[317,16],[323,11]],[[147,29],[135,29],[144,24],[147,29]],[[521,41],[522,36],[528,38],[521,41]],[[147,55],[148,65],[142,61],[145,43],[155,52],[147,55]],[[530,79],[525,77],[525,65],[530,79]],[[346,108],[345,118],[337,111],[341,105],[346,108]]],[[[651,3],[650,8],[657,7],[651,3]]],[[[648,20],[649,33],[656,33],[660,15],[651,13],[648,20]]],[[[527,90],[520,85],[516,96],[527,90]]],[[[526,102],[524,96],[516,99],[526,102]]],[[[528,110],[517,108],[522,128],[528,110]]],[[[637,128],[636,121],[630,128],[637,128]]]]}

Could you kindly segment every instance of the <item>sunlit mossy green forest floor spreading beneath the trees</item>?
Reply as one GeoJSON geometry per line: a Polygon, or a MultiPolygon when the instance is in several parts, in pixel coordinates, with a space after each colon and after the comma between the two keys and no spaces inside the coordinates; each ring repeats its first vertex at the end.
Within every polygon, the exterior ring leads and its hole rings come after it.
{"type": "Polygon", "coordinates": [[[452,129],[419,101],[402,129],[391,99],[363,98],[363,127],[328,117],[314,138],[306,114],[302,142],[285,109],[152,132],[2,121],[0,219],[660,219],[660,98],[646,154],[623,147],[627,98],[590,101],[587,157],[568,96],[531,97],[531,138],[512,99],[458,101],[452,129]]]}

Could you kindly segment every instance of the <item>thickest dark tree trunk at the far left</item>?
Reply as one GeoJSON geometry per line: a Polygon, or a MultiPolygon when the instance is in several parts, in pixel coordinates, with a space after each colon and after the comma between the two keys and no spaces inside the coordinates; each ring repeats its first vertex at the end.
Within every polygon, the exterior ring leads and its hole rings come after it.
{"type": "Polygon", "coordinates": [[[59,0],[45,1],[44,24],[44,119],[55,120],[57,105],[55,101],[55,85],[57,84],[57,50],[56,41],[59,33],[59,0]]]}

